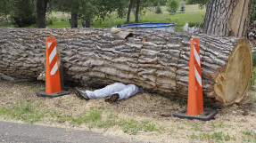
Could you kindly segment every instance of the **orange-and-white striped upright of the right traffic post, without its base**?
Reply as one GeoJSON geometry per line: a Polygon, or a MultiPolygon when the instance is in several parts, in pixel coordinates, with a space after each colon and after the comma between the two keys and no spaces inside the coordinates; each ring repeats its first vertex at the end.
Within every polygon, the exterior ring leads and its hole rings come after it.
{"type": "Polygon", "coordinates": [[[199,40],[191,39],[187,115],[198,115],[203,112],[202,73],[199,40]]]}

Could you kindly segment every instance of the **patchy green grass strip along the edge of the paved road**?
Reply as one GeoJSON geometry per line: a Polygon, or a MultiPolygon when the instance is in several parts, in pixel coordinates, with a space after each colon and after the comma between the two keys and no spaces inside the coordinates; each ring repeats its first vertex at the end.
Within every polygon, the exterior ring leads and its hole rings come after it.
{"type": "Polygon", "coordinates": [[[0,107],[0,115],[8,119],[17,119],[25,123],[65,123],[73,125],[86,123],[89,128],[108,128],[120,126],[120,128],[129,134],[136,134],[137,131],[165,131],[164,127],[147,120],[137,121],[135,119],[119,120],[117,115],[108,115],[103,118],[103,108],[90,109],[83,115],[68,115],[65,112],[48,109],[38,109],[42,103],[34,104],[20,102],[14,107],[0,107]]]}

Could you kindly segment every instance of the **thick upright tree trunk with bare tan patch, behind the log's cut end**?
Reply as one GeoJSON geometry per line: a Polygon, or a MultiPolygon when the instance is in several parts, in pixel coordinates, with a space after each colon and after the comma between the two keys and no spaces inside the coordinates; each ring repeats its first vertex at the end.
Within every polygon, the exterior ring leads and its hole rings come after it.
{"type": "Polygon", "coordinates": [[[251,9],[252,0],[209,0],[203,33],[246,37],[251,9]]]}

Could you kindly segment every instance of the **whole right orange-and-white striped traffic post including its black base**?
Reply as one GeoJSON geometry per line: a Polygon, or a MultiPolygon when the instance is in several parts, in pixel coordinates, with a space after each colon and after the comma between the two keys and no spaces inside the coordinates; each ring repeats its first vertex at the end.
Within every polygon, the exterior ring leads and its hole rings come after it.
{"type": "Polygon", "coordinates": [[[208,121],[217,114],[217,111],[203,110],[199,40],[192,38],[190,42],[187,109],[174,116],[208,121]]]}

